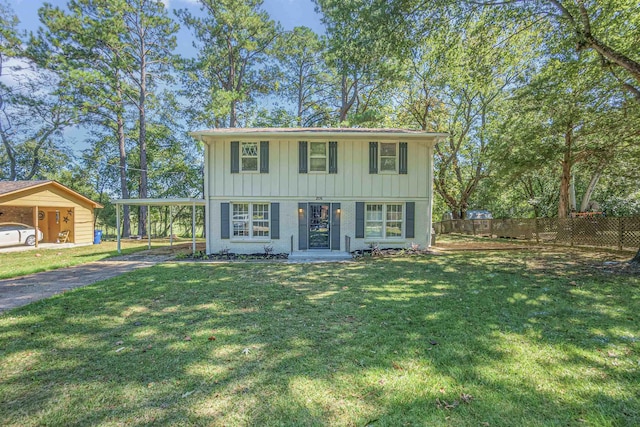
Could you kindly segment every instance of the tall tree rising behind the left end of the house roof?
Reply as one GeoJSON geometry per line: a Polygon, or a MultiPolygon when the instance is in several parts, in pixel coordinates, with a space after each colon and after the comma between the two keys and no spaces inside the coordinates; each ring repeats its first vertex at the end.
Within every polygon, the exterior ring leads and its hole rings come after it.
{"type": "Polygon", "coordinates": [[[184,61],[186,95],[196,122],[236,127],[242,108],[271,91],[267,61],[281,30],[261,9],[262,0],[200,0],[200,5],[203,17],[176,12],[198,48],[194,60],[184,61]]]}

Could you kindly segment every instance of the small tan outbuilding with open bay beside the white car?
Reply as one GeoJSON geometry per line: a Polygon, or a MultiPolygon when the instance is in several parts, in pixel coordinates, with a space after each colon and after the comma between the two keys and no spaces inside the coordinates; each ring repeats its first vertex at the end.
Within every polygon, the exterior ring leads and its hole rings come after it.
{"type": "Polygon", "coordinates": [[[42,242],[90,244],[94,239],[97,202],[56,181],[0,181],[0,223],[39,228],[42,242]]]}

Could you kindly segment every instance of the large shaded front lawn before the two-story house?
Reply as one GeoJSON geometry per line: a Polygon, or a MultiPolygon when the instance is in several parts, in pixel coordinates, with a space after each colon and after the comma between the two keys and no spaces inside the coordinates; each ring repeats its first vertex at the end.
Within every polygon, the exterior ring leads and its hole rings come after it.
{"type": "Polygon", "coordinates": [[[137,270],[0,316],[0,419],[638,425],[640,279],[601,261],[500,251],[137,270]]]}

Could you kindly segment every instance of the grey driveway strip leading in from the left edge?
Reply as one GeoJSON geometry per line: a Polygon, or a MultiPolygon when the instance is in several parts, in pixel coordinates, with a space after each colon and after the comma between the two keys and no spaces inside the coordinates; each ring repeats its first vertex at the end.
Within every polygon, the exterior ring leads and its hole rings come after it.
{"type": "Polygon", "coordinates": [[[0,280],[0,312],[173,258],[138,252],[74,267],[0,280]]]}

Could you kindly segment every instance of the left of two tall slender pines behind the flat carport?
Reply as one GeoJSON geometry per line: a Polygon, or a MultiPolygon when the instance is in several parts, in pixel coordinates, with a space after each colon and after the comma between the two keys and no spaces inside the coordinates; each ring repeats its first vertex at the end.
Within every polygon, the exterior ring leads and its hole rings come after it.
{"type": "MultiPolygon", "coordinates": [[[[67,99],[85,123],[112,133],[118,146],[120,194],[128,199],[125,115],[135,91],[126,80],[125,47],[119,36],[124,31],[121,9],[105,5],[79,0],[70,1],[68,11],[43,6],[38,13],[44,28],[32,38],[29,55],[65,82],[67,99]]],[[[125,206],[122,235],[130,233],[129,207],[125,206]]]]}

